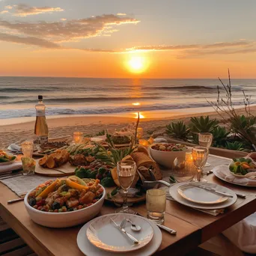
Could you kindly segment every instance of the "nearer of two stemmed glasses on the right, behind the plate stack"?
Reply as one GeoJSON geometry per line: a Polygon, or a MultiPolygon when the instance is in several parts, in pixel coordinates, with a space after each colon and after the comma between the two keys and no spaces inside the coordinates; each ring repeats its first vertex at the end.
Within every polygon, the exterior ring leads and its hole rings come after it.
{"type": "Polygon", "coordinates": [[[202,179],[202,168],[207,162],[208,155],[209,155],[209,150],[207,147],[192,148],[193,162],[198,171],[197,178],[194,179],[194,181],[196,182],[207,182],[207,180],[202,179]]]}

